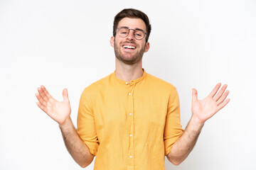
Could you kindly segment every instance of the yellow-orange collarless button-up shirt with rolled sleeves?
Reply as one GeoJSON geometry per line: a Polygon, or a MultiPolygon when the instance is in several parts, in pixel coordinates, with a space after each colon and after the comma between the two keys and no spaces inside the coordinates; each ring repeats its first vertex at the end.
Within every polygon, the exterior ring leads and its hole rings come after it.
{"type": "Polygon", "coordinates": [[[182,132],[176,88],[145,71],[129,82],[112,73],[82,92],[78,135],[95,170],[164,170],[182,132]]]}

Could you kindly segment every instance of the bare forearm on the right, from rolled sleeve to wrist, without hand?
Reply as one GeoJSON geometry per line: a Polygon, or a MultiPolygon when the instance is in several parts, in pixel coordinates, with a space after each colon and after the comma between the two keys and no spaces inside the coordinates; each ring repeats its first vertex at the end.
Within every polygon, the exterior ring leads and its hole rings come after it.
{"type": "Polygon", "coordinates": [[[174,143],[171,147],[171,152],[167,155],[167,158],[172,164],[181,164],[181,162],[188,157],[188,154],[196,145],[202,128],[203,124],[199,123],[198,120],[192,116],[183,135],[174,143]]]}

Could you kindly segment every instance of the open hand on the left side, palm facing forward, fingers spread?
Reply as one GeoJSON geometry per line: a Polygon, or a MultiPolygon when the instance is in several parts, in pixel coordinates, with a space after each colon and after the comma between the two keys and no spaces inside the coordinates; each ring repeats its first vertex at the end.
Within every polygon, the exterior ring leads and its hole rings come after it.
{"type": "Polygon", "coordinates": [[[59,125],[63,125],[70,118],[71,108],[67,89],[63,89],[63,101],[56,101],[44,86],[38,87],[36,98],[38,98],[37,106],[59,125]]]}

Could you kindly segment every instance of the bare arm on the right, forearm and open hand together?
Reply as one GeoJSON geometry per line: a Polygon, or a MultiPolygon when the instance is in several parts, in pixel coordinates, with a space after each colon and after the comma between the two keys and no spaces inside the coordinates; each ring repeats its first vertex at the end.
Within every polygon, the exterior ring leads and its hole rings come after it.
{"type": "Polygon", "coordinates": [[[220,111],[230,101],[229,98],[225,100],[229,93],[229,91],[225,91],[227,85],[224,85],[221,89],[220,86],[221,84],[217,84],[213,91],[203,100],[198,100],[197,91],[193,89],[191,120],[184,130],[183,135],[171,147],[171,152],[167,154],[167,158],[172,164],[181,164],[188,157],[188,154],[196,145],[196,141],[206,120],[215,115],[215,113],[220,111]],[[218,89],[220,89],[219,92],[218,89]]]}

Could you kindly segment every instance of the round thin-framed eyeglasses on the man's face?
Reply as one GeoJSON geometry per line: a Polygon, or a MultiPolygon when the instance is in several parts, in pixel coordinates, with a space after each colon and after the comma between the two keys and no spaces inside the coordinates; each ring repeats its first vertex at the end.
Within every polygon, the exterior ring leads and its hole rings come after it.
{"type": "MultiPolygon", "coordinates": [[[[119,27],[119,28],[117,28],[117,34],[120,37],[125,38],[125,37],[127,37],[127,35],[129,35],[129,30],[134,30],[134,29],[129,29],[127,27],[119,27]]],[[[133,35],[136,40],[142,40],[145,37],[146,33],[144,30],[137,28],[134,30],[133,35]]]]}

